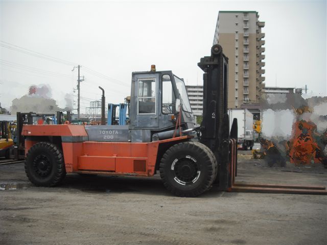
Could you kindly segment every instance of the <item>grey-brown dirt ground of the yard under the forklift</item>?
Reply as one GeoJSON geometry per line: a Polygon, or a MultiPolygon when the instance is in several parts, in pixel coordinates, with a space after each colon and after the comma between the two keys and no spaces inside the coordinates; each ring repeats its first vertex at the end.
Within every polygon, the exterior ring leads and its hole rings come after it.
{"type": "MultiPolygon", "coordinates": [[[[327,185],[327,169],[239,157],[238,181],[327,185]]],[[[326,195],[220,192],[172,196],[158,176],[67,175],[32,186],[0,166],[1,244],[326,244],[326,195]]]]}

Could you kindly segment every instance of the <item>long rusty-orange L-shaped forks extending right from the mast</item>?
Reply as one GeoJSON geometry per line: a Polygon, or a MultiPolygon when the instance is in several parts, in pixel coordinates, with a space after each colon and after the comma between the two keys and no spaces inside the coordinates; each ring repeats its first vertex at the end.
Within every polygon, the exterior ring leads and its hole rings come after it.
{"type": "Polygon", "coordinates": [[[237,173],[237,142],[229,139],[229,188],[231,192],[287,193],[287,194],[327,194],[325,186],[245,184],[235,182],[237,173]]]}

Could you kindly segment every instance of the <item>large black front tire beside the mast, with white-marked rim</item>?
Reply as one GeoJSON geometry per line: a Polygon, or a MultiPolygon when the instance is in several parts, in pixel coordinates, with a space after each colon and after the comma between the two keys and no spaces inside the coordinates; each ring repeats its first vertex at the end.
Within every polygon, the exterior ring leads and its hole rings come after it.
{"type": "Polygon", "coordinates": [[[162,156],[159,171],[165,187],[174,195],[196,197],[212,186],[217,176],[218,164],[215,155],[207,146],[200,142],[188,141],[175,144],[166,151],[162,156]],[[187,184],[181,184],[179,182],[183,181],[176,175],[175,164],[178,164],[180,159],[190,159],[189,157],[193,158],[192,164],[196,165],[197,177],[187,184]]]}

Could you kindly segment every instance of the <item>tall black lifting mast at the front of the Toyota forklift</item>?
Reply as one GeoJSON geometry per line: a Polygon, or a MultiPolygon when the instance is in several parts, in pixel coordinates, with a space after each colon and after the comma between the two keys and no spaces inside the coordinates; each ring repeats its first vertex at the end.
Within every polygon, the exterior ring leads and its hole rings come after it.
{"type": "Polygon", "coordinates": [[[219,165],[216,183],[219,183],[220,190],[226,190],[231,186],[230,159],[237,161],[237,149],[230,154],[230,138],[237,139],[238,131],[236,118],[229,129],[228,58],[222,47],[215,44],[211,48],[211,56],[201,58],[198,66],[204,71],[200,142],[214,153],[219,165]]]}

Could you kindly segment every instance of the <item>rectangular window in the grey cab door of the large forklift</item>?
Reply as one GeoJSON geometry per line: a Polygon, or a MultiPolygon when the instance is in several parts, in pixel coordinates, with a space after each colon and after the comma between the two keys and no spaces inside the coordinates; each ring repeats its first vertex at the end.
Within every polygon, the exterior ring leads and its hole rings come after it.
{"type": "Polygon", "coordinates": [[[154,78],[138,79],[138,114],[155,114],[156,80],[154,78]]]}

